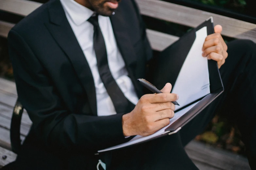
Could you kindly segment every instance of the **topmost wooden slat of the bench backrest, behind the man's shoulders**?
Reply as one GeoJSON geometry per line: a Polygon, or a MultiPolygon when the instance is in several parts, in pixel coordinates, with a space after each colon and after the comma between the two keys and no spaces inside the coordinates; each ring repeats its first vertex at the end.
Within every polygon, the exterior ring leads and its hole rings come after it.
{"type": "MultiPolygon", "coordinates": [[[[223,25],[223,35],[256,42],[256,24],[160,0],[136,1],[143,15],[190,27],[196,27],[202,21],[213,16],[214,24],[223,25]]],[[[41,3],[27,0],[0,1],[0,9],[22,16],[28,15],[41,5],[41,3]]]]}

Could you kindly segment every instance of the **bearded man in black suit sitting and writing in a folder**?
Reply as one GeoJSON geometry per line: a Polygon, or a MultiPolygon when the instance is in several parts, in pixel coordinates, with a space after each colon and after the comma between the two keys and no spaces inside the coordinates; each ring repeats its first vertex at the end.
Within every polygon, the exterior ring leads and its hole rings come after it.
{"type": "Polygon", "coordinates": [[[238,91],[243,98],[235,99],[248,102],[240,120],[253,160],[255,44],[233,41],[227,46],[221,29],[216,26],[216,33],[206,38],[202,54],[219,67],[227,59],[228,46],[234,57],[220,68],[226,91],[219,100],[176,135],[94,155],[129,136],[149,135],[166,126],[178,95],[170,93],[168,83],[164,93],[144,95],[136,83],[145,77],[152,51],[133,0],[52,0],[39,7],[8,36],[19,100],[33,125],[17,160],[5,168],[96,169],[100,159],[107,169],[197,169],[183,146],[203,130],[216,108],[234,104],[224,99],[238,91]],[[241,74],[246,84],[235,81],[241,74]]]}

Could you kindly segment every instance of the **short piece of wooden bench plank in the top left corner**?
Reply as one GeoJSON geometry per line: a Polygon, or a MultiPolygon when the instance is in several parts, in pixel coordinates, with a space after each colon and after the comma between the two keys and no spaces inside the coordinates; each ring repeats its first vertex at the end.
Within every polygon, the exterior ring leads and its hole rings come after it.
{"type": "Polygon", "coordinates": [[[27,0],[1,0],[0,10],[4,10],[21,16],[27,16],[41,5],[41,3],[27,0]]]}

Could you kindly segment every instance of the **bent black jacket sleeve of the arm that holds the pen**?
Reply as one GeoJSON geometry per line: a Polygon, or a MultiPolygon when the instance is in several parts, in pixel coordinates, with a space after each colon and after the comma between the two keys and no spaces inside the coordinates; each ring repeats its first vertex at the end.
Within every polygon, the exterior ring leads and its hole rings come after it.
{"type": "Polygon", "coordinates": [[[24,38],[11,30],[8,44],[19,100],[45,145],[95,152],[128,140],[123,135],[123,114],[97,117],[71,113],[24,38]]]}

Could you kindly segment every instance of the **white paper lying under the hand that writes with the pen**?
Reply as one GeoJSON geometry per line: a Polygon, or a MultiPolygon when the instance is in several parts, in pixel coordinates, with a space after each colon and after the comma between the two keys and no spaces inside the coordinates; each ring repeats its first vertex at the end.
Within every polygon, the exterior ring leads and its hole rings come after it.
{"type": "Polygon", "coordinates": [[[175,122],[177,119],[179,119],[182,115],[184,115],[187,111],[189,111],[193,106],[195,106],[198,102],[178,111],[175,113],[174,117],[172,119],[170,119],[170,124],[163,127],[162,129],[160,129],[159,131],[157,131],[156,133],[152,134],[152,135],[148,135],[148,136],[140,136],[140,135],[136,135],[134,136],[130,141],[120,144],[120,145],[116,145],[107,149],[103,149],[103,150],[99,150],[98,152],[105,152],[105,151],[109,151],[109,150],[113,150],[113,149],[119,149],[119,148],[123,148],[132,144],[136,144],[142,141],[145,141],[147,139],[153,138],[155,136],[158,135],[163,135],[165,133],[168,133],[170,131],[164,131],[165,128],[167,128],[168,126],[170,126],[173,122],[175,122]]]}

